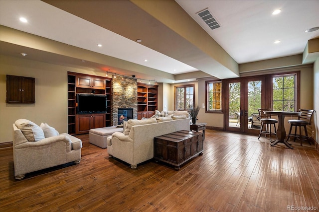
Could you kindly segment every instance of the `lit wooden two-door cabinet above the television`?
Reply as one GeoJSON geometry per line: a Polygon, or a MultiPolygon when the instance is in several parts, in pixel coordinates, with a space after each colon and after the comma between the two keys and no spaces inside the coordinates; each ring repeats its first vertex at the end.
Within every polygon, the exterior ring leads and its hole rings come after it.
{"type": "Polygon", "coordinates": [[[105,80],[100,77],[77,75],[76,87],[105,89],[105,80]]]}

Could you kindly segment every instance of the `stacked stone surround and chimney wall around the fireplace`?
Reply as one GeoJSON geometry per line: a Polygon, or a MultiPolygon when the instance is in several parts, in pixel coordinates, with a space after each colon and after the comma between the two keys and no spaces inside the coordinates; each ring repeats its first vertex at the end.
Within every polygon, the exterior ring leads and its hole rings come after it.
{"type": "Polygon", "coordinates": [[[133,108],[133,118],[138,118],[138,83],[137,79],[112,78],[112,120],[118,125],[118,109],[133,108]]]}

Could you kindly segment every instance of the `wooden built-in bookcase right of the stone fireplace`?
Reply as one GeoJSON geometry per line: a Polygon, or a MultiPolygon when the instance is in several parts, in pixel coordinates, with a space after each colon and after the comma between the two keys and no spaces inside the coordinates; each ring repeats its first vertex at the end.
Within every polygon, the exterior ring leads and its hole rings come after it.
{"type": "Polygon", "coordinates": [[[138,83],[138,119],[150,118],[158,109],[158,85],[138,83]]]}

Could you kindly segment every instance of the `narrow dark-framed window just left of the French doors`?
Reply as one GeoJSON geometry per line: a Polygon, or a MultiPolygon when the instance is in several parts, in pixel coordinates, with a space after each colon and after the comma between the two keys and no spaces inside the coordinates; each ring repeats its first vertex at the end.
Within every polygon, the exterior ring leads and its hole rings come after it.
{"type": "Polygon", "coordinates": [[[222,89],[221,81],[207,81],[207,111],[221,111],[222,109],[222,89]]]}

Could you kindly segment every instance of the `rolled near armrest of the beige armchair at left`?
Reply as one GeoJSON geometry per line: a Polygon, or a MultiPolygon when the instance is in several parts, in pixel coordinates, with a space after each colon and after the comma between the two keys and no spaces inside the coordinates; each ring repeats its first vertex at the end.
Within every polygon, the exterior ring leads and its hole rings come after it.
{"type": "Polygon", "coordinates": [[[69,152],[72,149],[72,142],[70,138],[64,135],[60,136],[53,136],[49,138],[42,139],[40,141],[35,142],[25,142],[18,145],[15,145],[14,148],[20,149],[20,148],[26,148],[26,147],[39,147],[39,146],[45,146],[56,142],[65,142],[66,144],[66,151],[69,152]]]}

